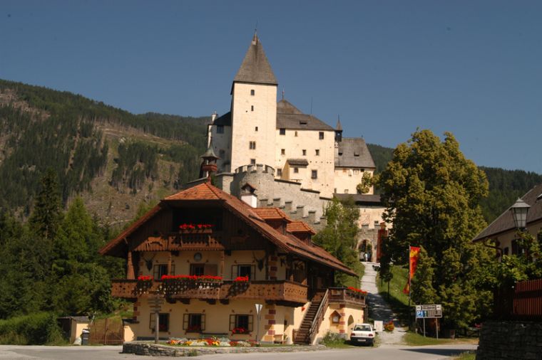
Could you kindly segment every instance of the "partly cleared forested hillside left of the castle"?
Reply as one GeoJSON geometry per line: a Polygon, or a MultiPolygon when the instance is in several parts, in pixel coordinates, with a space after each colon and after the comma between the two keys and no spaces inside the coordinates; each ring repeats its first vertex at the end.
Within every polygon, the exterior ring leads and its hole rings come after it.
{"type": "Polygon", "coordinates": [[[133,115],[71,92],[0,80],[0,207],[21,218],[46,169],[67,205],[81,195],[124,223],[198,176],[207,118],[133,115]]]}

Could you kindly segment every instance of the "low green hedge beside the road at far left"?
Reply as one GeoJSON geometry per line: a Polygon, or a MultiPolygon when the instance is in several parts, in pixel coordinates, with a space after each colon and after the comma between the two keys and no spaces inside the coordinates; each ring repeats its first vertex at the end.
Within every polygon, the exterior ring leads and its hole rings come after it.
{"type": "Polygon", "coordinates": [[[0,344],[56,345],[66,343],[52,312],[0,320],[0,344]]]}

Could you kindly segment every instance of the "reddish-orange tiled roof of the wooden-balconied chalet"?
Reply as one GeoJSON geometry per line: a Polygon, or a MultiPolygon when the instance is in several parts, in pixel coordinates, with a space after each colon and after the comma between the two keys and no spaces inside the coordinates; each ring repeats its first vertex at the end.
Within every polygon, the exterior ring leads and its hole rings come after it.
{"type": "MultiPolygon", "coordinates": [[[[280,248],[287,253],[295,253],[307,258],[314,260],[318,263],[322,263],[331,268],[337,269],[339,271],[345,272],[349,275],[357,276],[355,272],[350,270],[346,265],[344,265],[339,259],[334,258],[333,255],[327,253],[322,248],[319,248],[316,245],[307,245],[302,242],[302,240],[296,238],[291,233],[282,234],[272,228],[270,225],[265,223],[265,215],[272,216],[280,219],[285,219],[286,221],[291,221],[285,213],[280,211],[277,208],[251,208],[247,203],[240,201],[240,199],[225,193],[224,191],[216,188],[208,182],[198,184],[191,187],[190,189],[185,189],[180,191],[177,194],[168,196],[163,199],[163,203],[168,203],[171,201],[208,201],[208,200],[219,200],[223,201],[223,205],[228,210],[235,213],[237,216],[242,218],[249,226],[255,229],[262,236],[274,243],[277,248],[280,248]],[[265,215],[261,215],[265,214],[265,215]]],[[[107,243],[103,248],[100,249],[101,254],[106,254],[112,252],[113,248],[116,248],[118,245],[122,245],[125,238],[127,238],[131,233],[137,230],[145,221],[154,216],[160,210],[160,205],[155,206],[151,211],[146,213],[142,218],[140,218],[136,223],[133,223],[132,226],[123,231],[121,235],[118,235],[117,238],[114,238],[109,243],[107,243]]],[[[267,218],[268,220],[270,218],[267,218]]]]}

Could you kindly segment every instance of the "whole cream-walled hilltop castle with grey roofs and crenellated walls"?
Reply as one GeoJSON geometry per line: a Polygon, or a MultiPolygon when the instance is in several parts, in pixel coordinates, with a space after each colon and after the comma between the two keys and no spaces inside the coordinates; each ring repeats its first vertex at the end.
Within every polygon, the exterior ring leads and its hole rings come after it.
{"type": "Polygon", "coordinates": [[[230,112],[211,117],[208,147],[218,158],[215,183],[235,196],[252,195],[254,207],[282,208],[319,230],[333,196],[360,208],[360,240],[377,247],[383,206],[374,189],[357,190],[375,166],[362,138],[342,136],[282,99],[277,78],[255,33],[235,75],[230,112]]]}

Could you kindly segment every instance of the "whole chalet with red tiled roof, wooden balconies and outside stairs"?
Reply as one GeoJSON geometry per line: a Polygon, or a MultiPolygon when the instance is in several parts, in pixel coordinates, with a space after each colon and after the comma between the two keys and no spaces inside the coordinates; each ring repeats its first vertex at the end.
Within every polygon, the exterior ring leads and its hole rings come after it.
{"type": "MultiPolygon", "coordinates": [[[[364,319],[365,294],[334,287],[356,276],[312,243],[315,231],[278,208],[253,208],[209,181],[164,198],[101,250],[125,258],[112,294],[130,300],[125,340],[154,337],[150,300],[165,299],[159,337],[314,344],[364,319]],[[261,304],[260,326],[255,304],[261,304]],[[257,335],[259,337],[257,338],[257,335]]],[[[248,203],[247,203],[248,202],[248,203]]]]}

